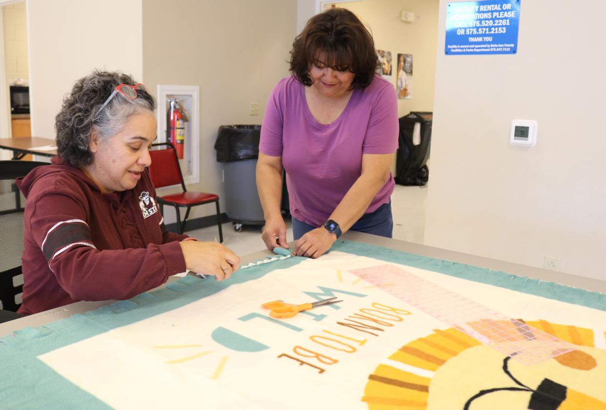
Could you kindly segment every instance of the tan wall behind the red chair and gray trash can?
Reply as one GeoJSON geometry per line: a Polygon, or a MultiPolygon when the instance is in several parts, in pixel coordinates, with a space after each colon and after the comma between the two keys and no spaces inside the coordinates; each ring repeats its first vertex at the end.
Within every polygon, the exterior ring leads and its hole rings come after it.
{"type": "MultiPolygon", "coordinates": [[[[288,51],[295,38],[296,0],[194,1],[143,3],[144,82],[200,87],[200,180],[189,190],[222,197],[222,164],[216,162],[220,125],[261,124],[271,90],[288,75],[288,51]],[[167,16],[175,15],[178,19],[167,16]],[[250,103],[259,103],[250,116],[250,103]]],[[[165,194],[169,191],[160,191],[165,194]]],[[[190,218],[215,214],[195,207],[190,218]]],[[[167,212],[167,222],[174,222],[167,212]]]]}

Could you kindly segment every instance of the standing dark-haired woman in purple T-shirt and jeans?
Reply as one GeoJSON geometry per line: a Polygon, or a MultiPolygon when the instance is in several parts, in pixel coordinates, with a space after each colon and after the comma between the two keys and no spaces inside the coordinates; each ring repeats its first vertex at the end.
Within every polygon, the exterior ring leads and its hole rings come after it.
{"type": "Polygon", "coordinates": [[[290,54],[291,76],[271,93],[261,127],[265,245],[288,247],[282,167],[294,254],[319,257],[350,229],[391,237],[398,103],[393,85],[375,74],[372,36],[353,13],[331,8],[307,22],[290,54]]]}

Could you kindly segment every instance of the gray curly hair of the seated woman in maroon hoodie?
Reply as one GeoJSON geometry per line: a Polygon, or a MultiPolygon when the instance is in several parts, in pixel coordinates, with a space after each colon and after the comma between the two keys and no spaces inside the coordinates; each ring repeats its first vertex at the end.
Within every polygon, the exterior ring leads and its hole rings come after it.
{"type": "Polygon", "coordinates": [[[93,163],[90,134],[95,130],[101,139],[118,133],[129,117],[153,113],[156,101],[144,90],[137,90],[137,98],[130,100],[116,95],[97,111],[120,84],[135,85],[132,76],[112,71],[95,70],[76,81],[72,93],[63,100],[61,111],[55,117],[57,153],[65,164],[84,168],[93,163]]]}

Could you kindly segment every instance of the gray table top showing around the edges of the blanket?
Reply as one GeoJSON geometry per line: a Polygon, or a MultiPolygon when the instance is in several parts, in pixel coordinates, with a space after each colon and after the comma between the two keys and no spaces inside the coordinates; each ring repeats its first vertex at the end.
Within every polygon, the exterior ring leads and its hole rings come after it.
{"type": "MultiPolygon", "coordinates": [[[[549,282],[561,283],[562,285],[574,286],[575,288],[587,289],[606,293],[606,281],[591,279],[588,277],[577,276],[556,271],[548,271],[547,269],[534,268],[532,266],[519,265],[518,263],[510,263],[497,259],[486,257],[473,256],[454,251],[448,251],[431,246],[419,245],[418,243],[404,242],[402,240],[388,239],[381,236],[369,235],[359,232],[347,232],[342,236],[342,239],[353,240],[356,242],[368,243],[370,245],[385,246],[386,248],[418,254],[421,256],[434,257],[438,259],[450,260],[453,262],[466,263],[467,265],[481,266],[482,268],[490,268],[496,271],[504,271],[510,274],[531,277],[533,279],[542,279],[549,282]]],[[[294,242],[290,243],[291,248],[294,247],[294,242]]],[[[254,260],[265,259],[267,256],[275,256],[274,253],[263,250],[251,253],[241,257],[241,265],[245,265],[254,260]]],[[[172,280],[178,280],[177,277],[172,277],[172,280]]],[[[160,286],[162,287],[162,286],[160,286]]],[[[112,303],[113,300],[105,300],[103,302],[76,302],[71,305],[62,306],[61,308],[50,309],[45,312],[33,314],[32,316],[22,319],[12,320],[6,323],[0,323],[0,337],[11,334],[13,331],[25,328],[27,326],[41,326],[45,323],[50,323],[55,320],[70,317],[76,313],[84,313],[101,306],[112,303]]]]}

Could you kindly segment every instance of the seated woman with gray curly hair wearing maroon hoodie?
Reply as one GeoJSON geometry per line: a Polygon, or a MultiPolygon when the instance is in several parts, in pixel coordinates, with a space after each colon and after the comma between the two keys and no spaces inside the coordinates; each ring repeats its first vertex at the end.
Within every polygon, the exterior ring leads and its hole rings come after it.
{"type": "Polygon", "coordinates": [[[216,280],[238,269],[223,245],[166,230],[147,170],[155,107],[144,85],[106,71],[65,98],[58,156],[17,183],[27,197],[20,313],[129,299],[185,268],[216,280]]]}

